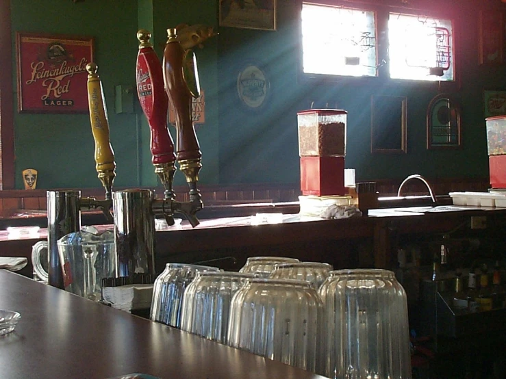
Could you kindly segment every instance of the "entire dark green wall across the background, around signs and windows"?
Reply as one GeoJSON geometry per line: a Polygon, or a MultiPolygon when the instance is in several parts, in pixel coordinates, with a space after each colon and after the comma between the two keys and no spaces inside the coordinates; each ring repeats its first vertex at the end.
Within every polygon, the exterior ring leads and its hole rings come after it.
{"type": "MultiPolygon", "coordinates": [[[[219,36],[195,50],[206,97],[206,122],[197,127],[203,152],[201,183],[298,182],[296,112],[312,102],[349,112],[346,167],[357,170],[358,180],[401,180],[414,172],[429,178],[488,176],[482,92],[483,88],[506,89],[506,73],[502,66],[478,64],[477,8],[459,5],[455,10],[459,90],[451,94],[461,104],[462,148],[427,151],[425,113],[439,93],[437,86],[301,81],[300,1],[278,0],[277,4],[277,31],[220,27],[219,36]],[[272,94],[259,112],[244,109],[236,95],[236,77],[245,62],[262,66],[270,79],[272,94]],[[370,96],[380,92],[407,96],[407,154],[370,153],[370,96]]],[[[152,31],[151,42],[161,58],[166,29],[179,23],[216,27],[218,1],[12,0],[11,10],[13,47],[16,31],[94,37],[116,154],[115,185],[157,185],[144,115],[138,103],[134,114],[116,114],[114,86],[135,88],[140,27],[152,31]]],[[[13,83],[16,88],[15,77],[13,83]]],[[[14,123],[16,188],[23,187],[25,168],[39,170],[39,188],[100,186],[88,115],[16,113],[14,123]]],[[[175,183],[184,183],[181,172],[175,183]]]]}

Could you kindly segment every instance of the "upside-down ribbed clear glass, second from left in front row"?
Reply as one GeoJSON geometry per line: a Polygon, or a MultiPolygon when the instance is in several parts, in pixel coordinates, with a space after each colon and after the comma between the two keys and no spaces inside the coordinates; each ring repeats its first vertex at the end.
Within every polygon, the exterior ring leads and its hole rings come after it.
{"type": "Polygon", "coordinates": [[[232,296],[253,274],[240,272],[197,272],[186,287],[181,329],[225,343],[232,296]]]}

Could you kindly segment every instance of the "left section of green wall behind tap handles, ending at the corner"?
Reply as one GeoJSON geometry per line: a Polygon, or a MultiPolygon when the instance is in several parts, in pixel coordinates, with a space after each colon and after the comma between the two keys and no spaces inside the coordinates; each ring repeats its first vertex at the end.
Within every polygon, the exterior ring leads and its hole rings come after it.
{"type": "MultiPolygon", "coordinates": [[[[136,34],[140,27],[155,29],[151,42],[161,60],[167,27],[175,27],[181,21],[215,23],[214,1],[200,1],[205,6],[192,18],[185,14],[188,9],[185,8],[188,3],[185,3],[156,0],[11,1],[13,51],[16,31],[94,37],[94,60],[99,66],[108,110],[110,139],[116,160],[114,185],[117,187],[155,186],[158,183],[151,164],[146,118],[138,101],[134,114],[116,114],[115,86],[131,87],[135,91],[136,34]],[[181,7],[184,9],[179,14],[174,12],[181,7]]],[[[197,51],[201,86],[207,96],[206,124],[197,128],[203,151],[203,183],[218,181],[216,46],[213,47],[212,43],[197,51]]],[[[12,64],[16,64],[15,53],[12,64]]],[[[15,77],[13,83],[16,91],[15,77]]],[[[171,129],[173,133],[174,128],[171,129]]],[[[21,171],[25,168],[38,170],[38,188],[101,186],[94,169],[94,140],[87,114],[16,113],[14,133],[16,188],[23,188],[21,171]]],[[[184,182],[183,174],[177,172],[175,183],[184,182]]]]}

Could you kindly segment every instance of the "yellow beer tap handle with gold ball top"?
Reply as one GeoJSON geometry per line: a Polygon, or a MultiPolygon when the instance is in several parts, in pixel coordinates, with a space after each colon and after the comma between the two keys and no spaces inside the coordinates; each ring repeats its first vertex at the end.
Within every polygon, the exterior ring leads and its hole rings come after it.
{"type": "Polygon", "coordinates": [[[88,71],[88,105],[90,107],[91,130],[95,140],[96,168],[99,179],[105,188],[105,196],[110,198],[112,183],[116,176],[116,163],[109,140],[107,108],[105,107],[102,83],[97,74],[97,64],[88,63],[86,70],[88,71]]]}

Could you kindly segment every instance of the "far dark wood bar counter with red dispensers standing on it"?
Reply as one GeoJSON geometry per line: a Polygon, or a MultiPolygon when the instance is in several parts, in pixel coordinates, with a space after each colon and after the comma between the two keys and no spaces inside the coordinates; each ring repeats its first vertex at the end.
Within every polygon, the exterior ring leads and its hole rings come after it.
{"type": "MultiPolygon", "coordinates": [[[[451,210],[451,207],[444,205],[431,211],[427,211],[427,207],[372,209],[368,217],[338,220],[289,213],[283,215],[281,224],[252,225],[251,216],[244,215],[202,219],[201,224],[192,228],[184,220],[179,226],[157,231],[156,272],[162,272],[168,262],[216,264],[225,270],[238,270],[246,257],[255,255],[325,261],[335,267],[374,264],[375,267],[388,268],[391,231],[397,234],[446,233],[457,226],[470,224],[475,215],[490,219],[487,229],[498,224],[498,220],[503,220],[501,224],[506,220],[506,208],[456,207],[457,210],[451,210]],[[357,241],[364,244],[372,241],[374,246],[364,245],[362,248],[374,251],[374,263],[353,261],[357,241]]],[[[29,264],[22,274],[31,276],[31,247],[42,239],[47,239],[45,228],[40,228],[36,235],[14,238],[0,231],[0,255],[28,257],[29,264]]]]}

